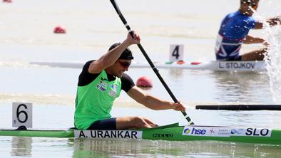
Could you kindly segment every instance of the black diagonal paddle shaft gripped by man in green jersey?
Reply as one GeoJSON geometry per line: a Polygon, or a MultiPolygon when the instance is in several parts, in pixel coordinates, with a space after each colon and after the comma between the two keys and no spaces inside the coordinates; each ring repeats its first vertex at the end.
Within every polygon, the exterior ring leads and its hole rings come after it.
{"type": "MultiPolygon", "coordinates": [[[[131,27],[128,25],[126,19],[122,15],[122,13],[121,13],[120,9],[118,8],[115,0],[111,0],[111,4],[114,6],[114,9],[116,10],[116,12],[117,12],[118,16],[120,17],[121,21],[126,26],[128,32],[133,37],[133,31],[131,30],[131,27]]],[[[145,52],[143,46],[141,46],[141,43],[138,44],[138,48],[140,48],[141,53],[143,53],[143,56],[145,57],[145,59],[148,60],[148,63],[150,65],[150,67],[153,69],[154,73],[157,75],[157,77],[159,78],[160,82],[163,84],[164,88],[169,93],[170,97],[173,99],[174,102],[178,102],[177,98],[175,98],[175,95],[173,95],[172,91],[170,90],[170,88],[168,87],[168,85],[165,83],[165,81],[163,80],[162,76],[158,72],[158,69],[155,68],[155,65],[152,63],[152,61],[148,57],[148,54],[145,52]]],[[[188,120],[188,123],[190,125],[194,125],[194,123],[191,121],[190,117],[186,114],[186,112],[182,112],[182,113],[183,113],[183,116],[185,117],[185,119],[188,120]]]]}

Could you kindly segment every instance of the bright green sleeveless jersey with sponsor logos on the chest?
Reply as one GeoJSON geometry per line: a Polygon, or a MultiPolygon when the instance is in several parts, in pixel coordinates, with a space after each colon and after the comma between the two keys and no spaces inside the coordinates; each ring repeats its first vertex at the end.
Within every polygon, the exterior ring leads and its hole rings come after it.
{"type": "Polygon", "coordinates": [[[74,125],[86,130],[93,122],[111,117],[113,101],[121,93],[121,79],[108,81],[105,70],[90,84],[78,86],[74,125]]]}

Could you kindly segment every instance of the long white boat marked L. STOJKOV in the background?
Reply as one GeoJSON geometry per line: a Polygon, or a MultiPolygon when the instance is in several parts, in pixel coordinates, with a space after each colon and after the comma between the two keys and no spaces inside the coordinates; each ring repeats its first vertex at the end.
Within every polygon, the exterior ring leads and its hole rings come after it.
{"type": "MultiPolygon", "coordinates": [[[[46,65],[59,68],[82,68],[83,62],[65,61],[32,61],[31,65],[46,65]]],[[[265,61],[204,61],[204,62],[153,62],[156,68],[181,68],[190,70],[218,71],[265,71],[265,61]]],[[[147,62],[132,62],[130,68],[150,68],[147,62]]]]}

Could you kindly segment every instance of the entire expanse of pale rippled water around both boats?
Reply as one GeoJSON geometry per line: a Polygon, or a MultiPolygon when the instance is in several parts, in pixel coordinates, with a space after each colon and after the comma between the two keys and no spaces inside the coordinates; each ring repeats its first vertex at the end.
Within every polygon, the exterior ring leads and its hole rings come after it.
{"type": "MultiPolygon", "coordinates": [[[[238,8],[237,0],[117,1],[131,28],[151,60],[168,60],[170,44],[183,44],[185,60],[213,60],[220,21],[238,8]]],[[[261,1],[259,16],[280,14],[280,0],[261,1]]],[[[250,31],[280,41],[280,27],[250,31]]],[[[109,1],[14,1],[0,3],[0,125],[11,128],[11,102],[34,103],[34,128],[73,127],[74,99],[79,69],[29,65],[34,60],[96,59],[108,46],[126,37],[120,19],[109,1]],[[66,34],[53,34],[55,26],[66,34]]],[[[242,52],[260,48],[243,46],[242,52]]],[[[138,47],[131,46],[137,61],[144,61],[138,47]]],[[[274,45],[277,59],[280,48],[274,45]]],[[[271,54],[271,53],[270,53],[271,54]]],[[[274,60],[272,60],[272,63],[274,60]]],[[[280,64],[275,64],[278,66],[280,64]]],[[[280,69],[280,68],[279,68],[280,69]]],[[[278,69],[278,70],[279,70],[278,69]]],[[[197,125],[227,125],[281,128],[279,111],[194,110],[201,104],[280,103],[279,73],[234,73],[209,70],[160,69],[175,97],[188,105],[188,115],[197,125]],[[272,88],[275,88],[273,90],[272,88]]],[[[153,80],[147,93],[171,100],[150,68],[128,71],[134,81],[141,75],[153,80]]],[[[113,116],[150,117],[158,125],[185,119],[172,110],[143,108],[125,93],[116,101],[113,116]],[[169,117],[167,117],[169,116],[169,117]]],[[[168,142],[131,140],[81,140],[1,137],[2,157],[278,157],[280,147],[228,142],[168,142]]]]}

